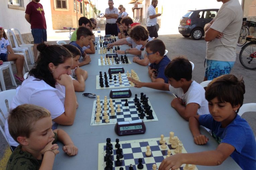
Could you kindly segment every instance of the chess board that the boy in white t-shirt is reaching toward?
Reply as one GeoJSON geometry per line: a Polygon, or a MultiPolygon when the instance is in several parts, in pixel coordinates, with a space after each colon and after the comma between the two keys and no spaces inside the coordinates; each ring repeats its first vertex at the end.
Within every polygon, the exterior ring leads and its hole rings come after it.
{"type": "Polygon", "coordinates": [[[134,86],[129,83],[129,80],[127,79],[127,76],[125,73],[121,74],[121,78],[122,78],[122,83],[119,83],[118,74],[112,74],[112,79],[109,79],[109,75],[107,75],[109,87],[105,86],[105,81],[103,81],[104,87],[100,87],[100,82],[99,82],[100,77],[99,77],[99,75],[97,75],[96,76],[96,89],[109,89],[109,88],[133,87],[134,86]],[[114,80],[115,75],[116,75],[116,80],[114,80]]]}

